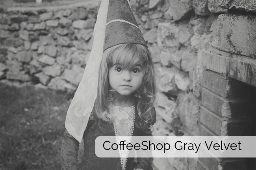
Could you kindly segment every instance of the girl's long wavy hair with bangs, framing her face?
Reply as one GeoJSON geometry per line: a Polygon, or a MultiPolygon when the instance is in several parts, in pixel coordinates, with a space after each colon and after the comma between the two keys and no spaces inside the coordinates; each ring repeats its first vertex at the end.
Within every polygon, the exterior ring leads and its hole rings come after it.
{"type": "Polygon", "coordinates": [[[138,62],[143,63],[144,78],[137,95],[138,110],[141,112],[136,126],[148,132],[154,116],[153,102],[155,99],[155,79],[152,58],[148,48],[140,44],[126,43],[108,48],[104,51],[98,73],[98,91],[95,101],[95,112],[91,119],[98,117],[102,121],[110,122],[109,108],[115,100],[115,91],[109,85],[109,68],[114,64],[121,64],[129,69],[138,62]]]}

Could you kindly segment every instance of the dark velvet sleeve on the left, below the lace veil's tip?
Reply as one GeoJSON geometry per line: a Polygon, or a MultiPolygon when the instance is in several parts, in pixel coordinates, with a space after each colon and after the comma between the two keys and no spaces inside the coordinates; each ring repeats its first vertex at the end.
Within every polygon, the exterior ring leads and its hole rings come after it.
{"type": "Polygon", "coordinates": [[[65,129],[61,145],[61,170],[79,170],[78,147],[79,142],[65,129]]]}

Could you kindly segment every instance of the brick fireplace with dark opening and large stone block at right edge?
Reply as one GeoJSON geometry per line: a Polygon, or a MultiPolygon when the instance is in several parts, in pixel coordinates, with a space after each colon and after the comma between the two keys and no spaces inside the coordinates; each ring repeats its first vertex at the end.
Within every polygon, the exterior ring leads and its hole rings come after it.
{"type": "MultiPolygon", "coordinates": [[[[256,135],[256,20],[252,13],[256,5],[248,3],[219,0],[220,7],[228,11],[212,25],[211,48],[202,54],[200,135],[256,135]]],[[[255,159],[200,158],[198,168],[253,169],[253,162],[255,159]]]]}

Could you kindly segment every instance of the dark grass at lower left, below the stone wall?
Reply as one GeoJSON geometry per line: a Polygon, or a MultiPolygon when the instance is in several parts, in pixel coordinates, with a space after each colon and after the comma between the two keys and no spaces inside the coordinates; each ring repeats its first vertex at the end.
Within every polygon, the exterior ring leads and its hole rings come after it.
{"type": "Polygon", "coordinates": [[[72,96],[0,85],[0,169],[61,169],[61,139],[72,96]]]}

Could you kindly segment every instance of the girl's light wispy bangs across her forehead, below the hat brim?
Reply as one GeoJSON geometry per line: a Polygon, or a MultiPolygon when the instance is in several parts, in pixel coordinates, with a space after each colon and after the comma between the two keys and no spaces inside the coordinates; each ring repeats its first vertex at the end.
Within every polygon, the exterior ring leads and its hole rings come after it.
{"type": "MultiPolygon", "coordinates": [[[[148,50],[141,44],[120,44],[118,46],[109,48],[112,52],[109,53],[107,58],[108,68],[118,64],[124,69],[129,69],[141,62],[143,68],[148,65],[148,50]]],[[[108,50],[108,49],[106,49],[108,50]]]]}

